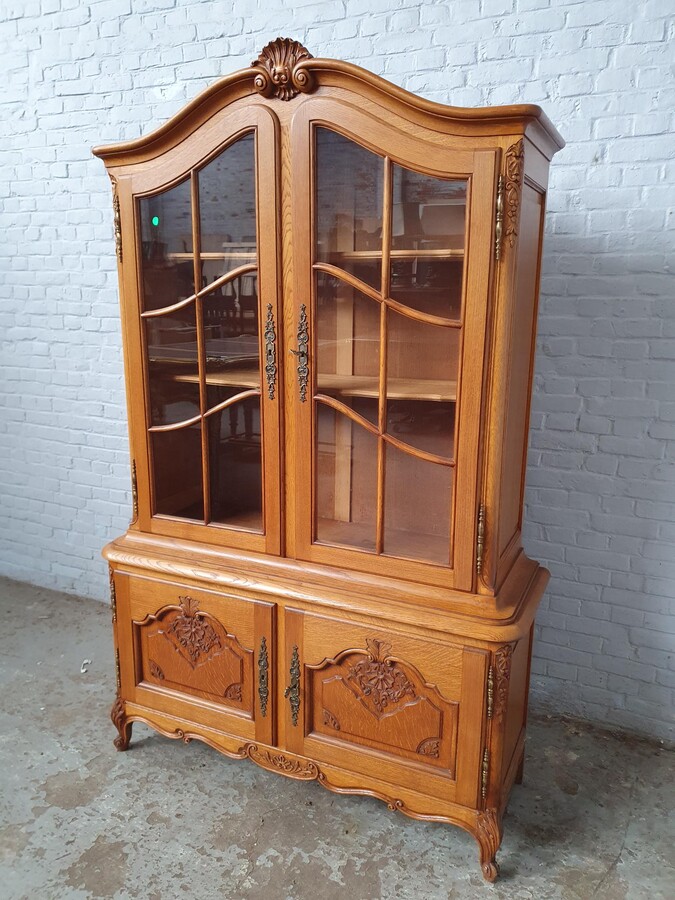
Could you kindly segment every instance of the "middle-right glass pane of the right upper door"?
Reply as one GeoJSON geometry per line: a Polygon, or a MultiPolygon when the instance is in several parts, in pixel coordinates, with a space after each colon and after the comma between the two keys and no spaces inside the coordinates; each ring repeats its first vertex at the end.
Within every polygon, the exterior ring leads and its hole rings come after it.
{"type": "Polygon", "coordinates": [[[428,453],[454,456],[458,328],[387,311],[387,430],[428,453]]]}

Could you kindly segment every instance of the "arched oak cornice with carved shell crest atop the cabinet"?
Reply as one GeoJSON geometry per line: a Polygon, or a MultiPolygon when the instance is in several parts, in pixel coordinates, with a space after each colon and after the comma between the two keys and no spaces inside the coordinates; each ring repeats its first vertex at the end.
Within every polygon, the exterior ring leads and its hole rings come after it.
{"type": "Polygon", "coordinates": [[[565,142],[543,110],[534,104],[468,109],[425,100],[352,63],[313,57],[298,41],[277,38],[246,69],[226,75],[198,94],[182,110],[144,137],[93,148],[106,166],[145,162],[179,144],[215,113],[246,97],[278,104],[297,102],[322,88],[365,96],[405,118],[432,129],[460,135],[529,133],[552,157],[565,142]]]}

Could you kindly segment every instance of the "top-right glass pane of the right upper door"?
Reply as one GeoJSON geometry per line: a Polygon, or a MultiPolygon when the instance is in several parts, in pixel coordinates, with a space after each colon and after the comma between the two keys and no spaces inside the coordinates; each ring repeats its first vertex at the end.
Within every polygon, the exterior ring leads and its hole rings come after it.
{"type": "Polygon", "coordinates": [[[393,167],[391,297],[421,312],[461,312],[466,182],[393,167]]]}

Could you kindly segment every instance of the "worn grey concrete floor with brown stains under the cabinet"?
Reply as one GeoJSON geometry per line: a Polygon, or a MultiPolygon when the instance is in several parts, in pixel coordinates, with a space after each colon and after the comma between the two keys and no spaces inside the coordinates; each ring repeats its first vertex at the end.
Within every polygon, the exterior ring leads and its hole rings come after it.
{"type": "Polygon", "coordinates": [[[117,753],[113,682],[106,606],[0,579],[2,900],[675,897],[659,746],[533,716],[489,886],[459,829],[138,724],[117,753]]]}

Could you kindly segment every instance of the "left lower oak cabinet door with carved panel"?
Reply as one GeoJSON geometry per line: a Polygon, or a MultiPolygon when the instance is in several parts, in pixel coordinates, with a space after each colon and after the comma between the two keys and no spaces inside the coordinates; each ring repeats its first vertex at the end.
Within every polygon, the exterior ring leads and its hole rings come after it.
{"type": "Polygon", "coordinates": [[[271,743],[274,604],[115,575],[125,700],[271,743]]]}

